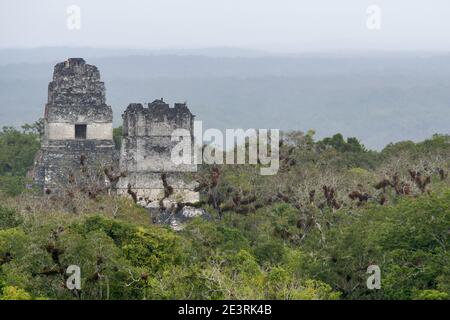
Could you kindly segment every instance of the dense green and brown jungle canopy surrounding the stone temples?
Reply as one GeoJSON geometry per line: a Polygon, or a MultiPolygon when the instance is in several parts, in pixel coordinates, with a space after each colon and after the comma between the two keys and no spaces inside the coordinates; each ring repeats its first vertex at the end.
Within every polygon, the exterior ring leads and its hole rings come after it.
{"type": "MultiPolygon", "coordinates": [[[[3,177],[32,163],[13,136],[34,146],[4,129],[1,163],[23,161],[3,177]]],[[[0,299],[449,299],[449,142],[375,152],[289,133],[277,175],[202,167],[199,205],[212,219],[181,231],[106,193],[4,192],[0,299]],[[69,265],[81,268],[79,291],[65,286],[69,265]],[[366,286],[369,265],[381,269],[379,290],[366,286]]]]}

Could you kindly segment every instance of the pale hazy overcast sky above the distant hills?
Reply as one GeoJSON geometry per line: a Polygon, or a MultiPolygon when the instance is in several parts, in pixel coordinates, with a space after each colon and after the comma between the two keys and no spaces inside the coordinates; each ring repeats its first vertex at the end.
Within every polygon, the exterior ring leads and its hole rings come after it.
{"type": "Polygon", "coordinates": [[[0,47],[450,51],[449,0],[0,0],[0,47]],[[67,7],[81,28],[67,27],[67,7]],[[381,29],[366,26],[370,5],[381,29]]]}

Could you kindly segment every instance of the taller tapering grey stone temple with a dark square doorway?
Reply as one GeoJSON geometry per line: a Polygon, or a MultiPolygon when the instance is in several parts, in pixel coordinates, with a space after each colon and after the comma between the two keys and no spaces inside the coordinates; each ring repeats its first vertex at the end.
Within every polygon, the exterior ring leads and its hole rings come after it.
{"type": "Polygon", "coordinates": [[[112,119],[97,67],[80,58],[58,63],[48,86],[36,184],[50,192],[73,179],[80,166],[112,165],[112,119]]]}

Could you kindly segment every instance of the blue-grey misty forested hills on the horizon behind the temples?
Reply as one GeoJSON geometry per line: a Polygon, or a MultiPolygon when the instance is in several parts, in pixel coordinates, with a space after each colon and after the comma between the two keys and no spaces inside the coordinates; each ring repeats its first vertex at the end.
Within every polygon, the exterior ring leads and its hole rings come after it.
{"type": "Polygon", "coordinates": [[[130,102],[187,101],[206,127],[341,132],[370,148],[450,133],[450,55],[269,55],[185,51],[0,50],[0,125],[42,116],[53,66],[99,67],[115,122],[130,102]]]}

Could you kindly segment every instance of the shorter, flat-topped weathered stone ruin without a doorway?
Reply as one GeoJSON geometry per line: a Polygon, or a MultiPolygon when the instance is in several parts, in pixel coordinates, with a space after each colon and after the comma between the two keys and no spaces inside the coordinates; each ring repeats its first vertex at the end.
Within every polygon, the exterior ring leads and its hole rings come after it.
{"type": "MultiPolygon", "coordinates": [[[[193,141],[194,116],[184,103],[176,103],[173,108],[162,99],[155,100],[145,108],[142,104],[130,104],[123,114],[123,139],[120,154],[120,170],[126,177],[120,179],[118,192],[129,189],[145,203],[167,201],[198,201],[194,192],[195,184],[188,181],[188,172],[195,172],[195,164],[175,164],[171,161],[172,148],[177,142],[171,141],[172,132],[185,129],[193,141]],[[170,197],[165,195],[166,183],[173,189],[170,197]]],[[[183,137],[184,139],[184,137],[183,137]]]]}

